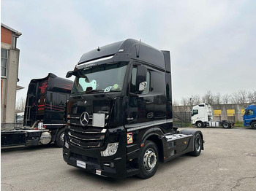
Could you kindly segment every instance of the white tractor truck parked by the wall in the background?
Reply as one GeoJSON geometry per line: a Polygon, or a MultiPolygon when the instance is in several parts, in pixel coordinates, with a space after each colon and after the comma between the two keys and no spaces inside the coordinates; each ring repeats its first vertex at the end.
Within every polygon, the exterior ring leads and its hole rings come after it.
{"type": "Polygon", "coordinates": [[[235,124],[227,120],[213,121],[213,114],[210,104],[198,104],[193,106],[191,110],[191,123],[196,125],[197,128],[205,127],[222,127],[222,128],[232,128],[235,124]]]}

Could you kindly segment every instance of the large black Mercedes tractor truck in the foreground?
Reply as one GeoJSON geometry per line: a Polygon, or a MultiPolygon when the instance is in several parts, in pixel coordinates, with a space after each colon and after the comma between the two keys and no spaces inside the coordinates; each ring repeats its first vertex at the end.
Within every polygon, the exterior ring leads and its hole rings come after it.
{"type": "Polygon", "coordinates": [[[72,75],[63,149],[69,165],[148,179],[159,162],[200,155],[200,130],[173,128],[169,51],[127,39],[83,54],[72,75]]]}

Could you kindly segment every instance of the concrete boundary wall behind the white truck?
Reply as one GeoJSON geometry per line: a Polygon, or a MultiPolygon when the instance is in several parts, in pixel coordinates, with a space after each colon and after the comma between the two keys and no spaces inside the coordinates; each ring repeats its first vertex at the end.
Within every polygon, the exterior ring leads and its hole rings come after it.
{"type": "MultiPolygon", "coordinates": [[[[252,103],[256,104],[256,103],[252,103]]],[[[219,104],[212,105],[211,108],[214,110],[221,110],[220,115],[214,115],[214,120],[230,120],[230,121],[243,121],[242,109],[246,109],[246,106],[251,104],[219,104]],[[227,109],[234,109],[235,114],[227,114],[227,109]]],[[[173,112],[190,112],[192,106],[173,106],[173,112]]]]}

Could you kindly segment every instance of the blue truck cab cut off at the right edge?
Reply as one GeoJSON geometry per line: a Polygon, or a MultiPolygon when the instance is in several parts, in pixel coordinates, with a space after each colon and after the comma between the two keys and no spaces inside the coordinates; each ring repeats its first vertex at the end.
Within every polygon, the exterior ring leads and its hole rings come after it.
{"type": "Polygon", "coordinates": [[[244,127],[251,126],[256,129],[256,105],[249,105],[244,111],[244,127]]]}

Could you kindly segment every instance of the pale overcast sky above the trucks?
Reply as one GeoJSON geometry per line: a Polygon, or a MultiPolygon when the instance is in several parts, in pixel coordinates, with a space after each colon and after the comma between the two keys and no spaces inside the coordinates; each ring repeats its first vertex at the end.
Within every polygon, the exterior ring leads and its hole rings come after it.
{"type": "Polygon", "coordinates": [[[173,98],[256,89],[256,1],[1,1],[18,39],[18,85],[64,77],[84,52],[133,38],[170,50],[173,98]]]}

